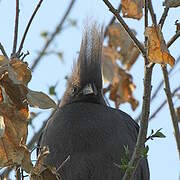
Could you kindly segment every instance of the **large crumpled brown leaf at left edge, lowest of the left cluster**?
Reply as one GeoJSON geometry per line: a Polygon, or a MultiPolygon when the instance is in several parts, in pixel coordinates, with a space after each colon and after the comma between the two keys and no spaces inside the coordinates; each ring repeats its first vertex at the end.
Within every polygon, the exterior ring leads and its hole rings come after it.
{"type": "Polygon", "coordinates": [[[0,103],[0,115],[5,123],[5,133],[0,138],[0,167],[21,165],[27,159],[20,144],[25,144],[27,138],[28,109],[22,113],[10,104],[0,103]]]}

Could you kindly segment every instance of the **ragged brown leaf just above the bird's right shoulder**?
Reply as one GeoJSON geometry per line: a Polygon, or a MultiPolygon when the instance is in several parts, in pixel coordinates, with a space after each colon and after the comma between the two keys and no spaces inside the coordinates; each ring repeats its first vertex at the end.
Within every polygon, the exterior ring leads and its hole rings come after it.
{"type": "Polygon", "coordinates": [[[116,67],[115,76],[110,89],[110,99],[115,102],[116,107],[120,104],[129,102],[133,110],[138,106],[138,101],[133,97],[135,85],[130,74],[123,69],[116,67]]]}

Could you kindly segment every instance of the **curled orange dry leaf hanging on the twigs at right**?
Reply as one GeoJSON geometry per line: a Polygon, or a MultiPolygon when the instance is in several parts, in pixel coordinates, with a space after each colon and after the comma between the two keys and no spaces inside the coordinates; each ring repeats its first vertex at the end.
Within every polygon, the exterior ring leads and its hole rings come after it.
{"type": "Polygon", "coordinates": [[[147,27],[145,36],[148,37],[148,60],[153,63],[174,66],[175,60],[166,46],[159,26],[147,27]]]}

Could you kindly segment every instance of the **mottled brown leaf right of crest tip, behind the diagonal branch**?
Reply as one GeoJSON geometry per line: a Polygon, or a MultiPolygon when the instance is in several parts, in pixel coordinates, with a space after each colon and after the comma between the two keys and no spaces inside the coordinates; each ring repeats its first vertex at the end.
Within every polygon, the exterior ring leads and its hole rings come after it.
{"type": "MultiPolygon", "coordinates": [[[[132,32],[136,35],[134,30],[132,32]]],[[[111,54],[118,54],[116,59],[122,62],[125,69],[130,70],[140,54],[139,50],[119,23],[108,28],[108,37],[109,47],[114,49],[111,54]]]]}

